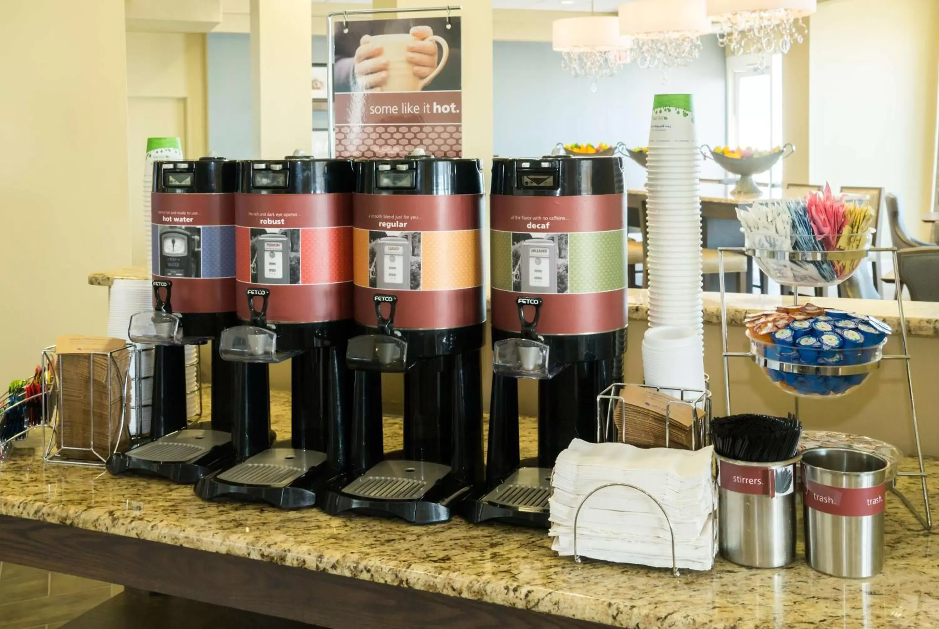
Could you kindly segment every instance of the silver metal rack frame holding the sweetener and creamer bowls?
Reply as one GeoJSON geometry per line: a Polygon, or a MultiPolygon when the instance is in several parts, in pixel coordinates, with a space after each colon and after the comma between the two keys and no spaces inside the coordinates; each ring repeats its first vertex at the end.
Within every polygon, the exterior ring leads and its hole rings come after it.
{"type": "MultiPolygon", "coordinates": [[[[724,399],[725,407],[727,414],[731,414],[731,379],[730,379],[730,359],[731,358],[747,358],[751,361],[756,362],[757,364],[762,364],[765,360],[762,357],[757,356],[752,351],[749,352],[729,352],[727,350],[727,293],[726,287],[724,285],[724,253],[746,253],[750,257],[767,257],[773,259],[788,259],[793,261],[822,261],[827,259],[837,259],[847,260],[847,259],[859,259],[866,258],[870,253],[890,253],[893,258],[893,268],[900,268],[899,260],[897,259],[897,248],[896,247],[871,247],[867,250],[856,250],[851,252],[837,252],[833,255],[829,255],[828,252],[763,252],[762,250],[747,249],[744,247],[719,247],[717,249],[717,277],[718,283],[720,284],[720,333],[721,333],[721,350],[723,352],[724,358],[724,399]],[[765,254],[763,254],[765,253],[765,254]],[[861,254],[863,253],[863,255],[861,254]]],[[[799,287],[795,284],[789,284],[793,289],[793,305],[799,303],[799,287]]],[[[881,358],[881,361],[903,361],[903,364],[906,367],[906,386],[907,392],[909,393],[910,398],[910,412],[913,419],[913,434],[914,440],[916,442],[916,462],[919,466],[919,471],[912,472],[898,472],[898,477],[908,477],[908,478],[918,478],[920,486],[922,488],[923,496],[923,513],[920,513],[916,506],[908,499],[898,488],[897,482],[894,480],[891,483],[890,490],[901,499],[901,502],[906,506],[911,514],[916,516],[916,519],[919,521],[919,524],[922,525],[923,529],[931,530],[932,529],[932,513],[930,509],[930,494],[929,487],[927,486],[927,473],[926,467],[923,464],[923,451],[919,439],[919,422],[916,419],[916,400],[913,395],[913,375],[910,370],[910,352],[907,345],[906,338],[906,317],[903,315],[903,299],[901,291],[897,291],[897,314],[900,319],[900,336],[901,336],[901,349],[902,354],[892,354],[884,355],[881,358]]],[[[880,366],[880,362],[876,362],[871,365],[853,365],[853,367],[865,367],[866,370],[870,371],[876,369],[880,366]]],[[[809,367],[810,370],[825,370],[825,373],[831,372],[832,375],[848,375],[851,370],[849,367],[809,367]],[[836,373],[837,372],[837,373],[836,373]]],[[[818,373],[822,373],[819,371],[818,373]]],[[[851,373],[857,373],[856,370],[852,370],[851,373]]],[[[793,407],[795,411],[795,416],[799,416],[799,398],[797,395],[793,395],[793,407]]]]}

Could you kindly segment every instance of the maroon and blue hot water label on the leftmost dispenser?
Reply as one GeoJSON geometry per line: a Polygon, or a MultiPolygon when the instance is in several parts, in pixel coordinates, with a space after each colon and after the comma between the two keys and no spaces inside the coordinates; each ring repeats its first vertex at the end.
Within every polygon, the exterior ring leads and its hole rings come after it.
{"type": "Polygon", "coordinates": [[[177,313],[235,310],[233,194],[150,196],[154,280],[173,282],[177,313]]]}

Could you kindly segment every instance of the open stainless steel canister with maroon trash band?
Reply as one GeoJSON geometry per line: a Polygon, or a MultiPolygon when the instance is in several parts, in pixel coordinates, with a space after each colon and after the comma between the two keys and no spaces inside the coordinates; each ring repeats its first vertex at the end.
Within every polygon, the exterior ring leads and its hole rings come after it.
{"type": "Polygon", "coordinates": [[[877,454],[851,448],[802,453],[808,565],[850,578],[881,571],[887,467],[877,454]]]}

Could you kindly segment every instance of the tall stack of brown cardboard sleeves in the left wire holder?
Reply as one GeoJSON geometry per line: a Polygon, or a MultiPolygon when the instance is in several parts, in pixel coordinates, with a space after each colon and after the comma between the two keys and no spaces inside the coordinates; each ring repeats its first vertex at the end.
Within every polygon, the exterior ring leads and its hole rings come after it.
{"type": "Polygon", "coordinates": [[[101,461],[130,446],[127,430],[120,431],[131,365],[131,351],[123,347],[124,341],[107,337],[58,339],[55,445],[62,458],[101,461]]]}

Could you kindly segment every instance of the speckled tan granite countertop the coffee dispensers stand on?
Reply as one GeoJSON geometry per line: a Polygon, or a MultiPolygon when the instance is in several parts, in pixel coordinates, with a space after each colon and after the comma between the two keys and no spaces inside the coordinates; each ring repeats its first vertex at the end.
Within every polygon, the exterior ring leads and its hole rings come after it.
{"type": "MultiPolygon", "coordinates": [[[[271,410],[274,428],[285,437],[290,418],[285,392],[272,393],[271,410]]],[[[388,419],[385,426],[386,447],[400,447],[400,420],[388,419]]],[[[317,510],[208,503],[190,486],[44,464],[40,434],[34,431],[0,464],[0,514],[621,627],[939,625],[939,534],[920,529],[892,494],[886,505],[885,569],[875,578],[816,573],[801,558],[801,544],[800,559],[785,569],[749,570],[718,559],[711,572],[675,578],[668,570],[559,558],[541,530],[470,526],[458,518],[415,527],[317,510]]],[[[533,454],[533,420],[523,422],[522,435],[522,455],[533,454]]],[[[914,465],[907,458],[901,468],[914,465]]],[[[939,462],[929,461],[928,471],[934,479],[939,462]]],[[[931,499],[939,504],[934,486],[931,499]]],[[[901,479],[901,488],[917,495],[909,479],[901,479]]]]}

